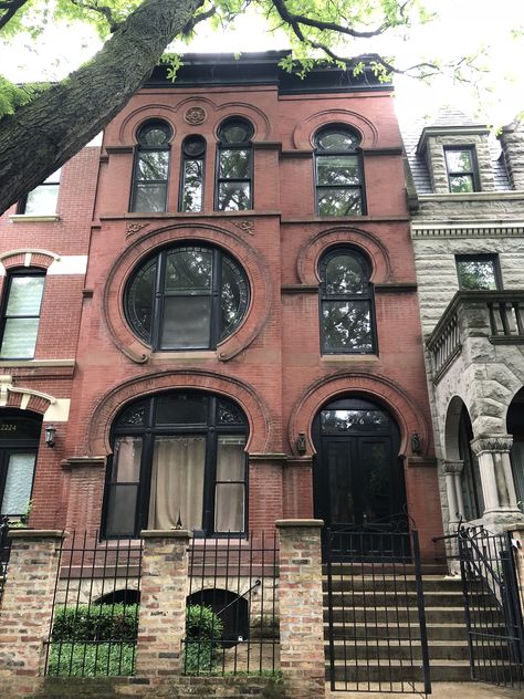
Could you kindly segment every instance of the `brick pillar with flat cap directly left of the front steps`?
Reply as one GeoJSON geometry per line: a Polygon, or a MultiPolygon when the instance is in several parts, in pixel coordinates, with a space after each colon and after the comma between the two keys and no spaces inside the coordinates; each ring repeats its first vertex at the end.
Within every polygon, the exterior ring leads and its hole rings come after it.
{"type": "Polygon", "coordinates": [[[279,520],[281,669],[293,699],[325,697],[321,520],[279,520]]]}

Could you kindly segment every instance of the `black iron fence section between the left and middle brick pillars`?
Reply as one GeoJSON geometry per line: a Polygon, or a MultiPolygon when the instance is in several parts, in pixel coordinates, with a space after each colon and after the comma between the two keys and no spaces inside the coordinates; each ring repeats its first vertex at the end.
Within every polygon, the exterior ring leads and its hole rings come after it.
{"type": "Polygon", "coordinates": [[[140,602],[142,542],[64,540],[56,577],[45,674],[133,675],[140,602]]]}

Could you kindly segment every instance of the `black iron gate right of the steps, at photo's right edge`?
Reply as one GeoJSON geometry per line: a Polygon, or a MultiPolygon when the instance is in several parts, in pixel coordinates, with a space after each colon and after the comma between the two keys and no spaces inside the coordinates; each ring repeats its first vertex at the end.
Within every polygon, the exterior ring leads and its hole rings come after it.
{"type": "Polygon", "coordinates": [[[511,534],[460,528],[458,545],[471,676],[521,688],[524,629],[511,534]]]}

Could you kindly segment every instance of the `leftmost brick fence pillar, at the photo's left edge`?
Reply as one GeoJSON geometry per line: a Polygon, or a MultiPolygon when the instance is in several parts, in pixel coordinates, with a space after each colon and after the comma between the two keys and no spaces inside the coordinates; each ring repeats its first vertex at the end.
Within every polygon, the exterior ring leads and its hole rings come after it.
{"type": "Polygon", "coordinates": [[[0,687],[4,697],[34,691],[43,675],[64,532],[12,529],[0,608],[0,687]]]}

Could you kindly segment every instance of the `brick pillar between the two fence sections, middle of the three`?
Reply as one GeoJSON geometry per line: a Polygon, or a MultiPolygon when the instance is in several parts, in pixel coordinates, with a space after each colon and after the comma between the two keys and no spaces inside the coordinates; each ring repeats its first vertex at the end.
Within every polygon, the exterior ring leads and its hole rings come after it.
{"type": "Polygon", "coordinates": [[[188,545],[184,530],[143,531],[140,617],[136,674],[159,678],[181,668],[188,594],[188,545]]]}

